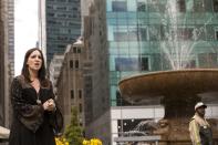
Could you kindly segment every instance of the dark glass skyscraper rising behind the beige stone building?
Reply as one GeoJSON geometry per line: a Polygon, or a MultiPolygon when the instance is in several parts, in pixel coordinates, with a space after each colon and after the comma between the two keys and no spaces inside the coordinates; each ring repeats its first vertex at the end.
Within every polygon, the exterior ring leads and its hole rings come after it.
{"type": "Polygon", "coordinates": [[[62,54],[81,35],[81,1],[40,0],[39,6],[40,46],[49,64],[53,54],[62,54]]]}

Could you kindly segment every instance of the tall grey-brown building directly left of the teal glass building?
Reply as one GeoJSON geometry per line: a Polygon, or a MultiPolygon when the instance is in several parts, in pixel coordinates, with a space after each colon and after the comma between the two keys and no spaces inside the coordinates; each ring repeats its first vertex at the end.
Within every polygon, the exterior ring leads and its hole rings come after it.
{"type": "MultiPolygon", "coordinates": [[[[85,49],[92,56],[92,104],[90,122],[85,126],[87,138],[97,137],[111,144],[111,112],[108,90],[108,50],[106,39],[105,0],[93,0],[84,19],[85,49]]],[[[85,102],[87,103],[87,102],[85,102]]]]}

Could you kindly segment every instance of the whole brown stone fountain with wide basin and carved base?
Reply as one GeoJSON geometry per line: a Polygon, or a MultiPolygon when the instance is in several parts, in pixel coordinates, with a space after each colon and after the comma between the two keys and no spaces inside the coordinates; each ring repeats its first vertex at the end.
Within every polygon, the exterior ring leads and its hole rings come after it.
{"type": "MultiPolygon", "coordinates": [[[[122,96],[132,103],[159,100],[165,116],[153,135],[162,135],[162,143],[190,144],[188,123],[196,102],[218,103],[218,70],[193,69],[163,71],[134,75],[118,84],[122,96]]],[[[217,120],[210,118],[214,137],[218,138],[217,120]]]]}

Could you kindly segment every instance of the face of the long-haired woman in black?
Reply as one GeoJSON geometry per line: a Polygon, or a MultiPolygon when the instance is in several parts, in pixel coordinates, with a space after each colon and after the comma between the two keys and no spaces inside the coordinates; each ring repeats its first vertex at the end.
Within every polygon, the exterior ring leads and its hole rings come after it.
{"type": "Polygon", "coordinates": [[[29,70],[39,71],[42,66],[41,53],[38,50],[33,51],[28,58],[27,64],[28,64],[29,70]]]}

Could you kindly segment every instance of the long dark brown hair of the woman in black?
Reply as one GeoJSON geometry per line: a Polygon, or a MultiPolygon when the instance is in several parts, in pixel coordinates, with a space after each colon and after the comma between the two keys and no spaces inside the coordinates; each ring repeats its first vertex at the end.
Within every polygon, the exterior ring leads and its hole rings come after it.
{"type": "Polygon", "coordinates": [[[38,72],[38,77],[39,77],[40,83],[41,83],[42,86],[48,86],[49,85],[49,81],[46,80],[46,70],[45,70],[45,65],[44,65],[44,58],[43,58],[42,51],[39,48],[33,48],[33,49],[30,49],[30,50],[28,50],[25,52],[25,56],[24,56],[23,68],[22,68],[21,74],[24,76],[25,81],[28,81],[29,83],[31,82],[29,66],[28,66],[27,63],[28,63],[28,59],[29,59],[30,54],[33,51],[39,51],[40,54],[41,54],[42,65],[41,65],[41,69],[39,70],[39,72],[38,72]]]}

